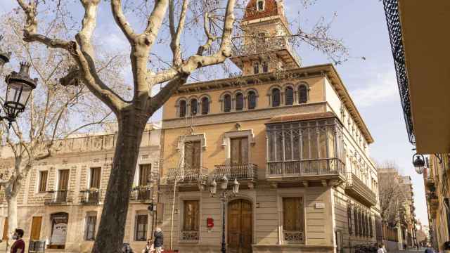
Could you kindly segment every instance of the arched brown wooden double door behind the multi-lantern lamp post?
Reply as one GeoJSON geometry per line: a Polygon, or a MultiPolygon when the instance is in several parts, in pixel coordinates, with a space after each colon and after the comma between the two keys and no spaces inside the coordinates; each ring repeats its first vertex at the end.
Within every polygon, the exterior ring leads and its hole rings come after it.
{"type": "Polygon", "coordinates": [[[231,253],[252,252],[252,203],[233,200],[228,205],[228,249],[231,253]]]}

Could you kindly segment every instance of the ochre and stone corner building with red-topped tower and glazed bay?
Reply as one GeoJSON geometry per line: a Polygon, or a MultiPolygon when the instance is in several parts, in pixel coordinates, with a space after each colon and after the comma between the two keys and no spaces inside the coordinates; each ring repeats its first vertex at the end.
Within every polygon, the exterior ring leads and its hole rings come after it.
{"type": "Polygon", "coordinates": [[[373,138],[338,72],[301,66],[283,1],[250,1],[241,25],[231,60],[243,75],[186,84],[163,108],[166,249],[219,252],[224,236],[227,252],[350,252],[381,240],[373,138]]]}

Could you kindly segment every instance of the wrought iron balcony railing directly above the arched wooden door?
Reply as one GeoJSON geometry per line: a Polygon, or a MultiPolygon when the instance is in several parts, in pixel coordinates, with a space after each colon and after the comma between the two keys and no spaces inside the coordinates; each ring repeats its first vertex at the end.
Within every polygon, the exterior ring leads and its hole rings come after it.
{"type": "Polygon", "coordinates": [[[257,180],[256,164],[224,164],[214,166],[214,179],[220,180],[223,176],[228,179],[257,180]]]}

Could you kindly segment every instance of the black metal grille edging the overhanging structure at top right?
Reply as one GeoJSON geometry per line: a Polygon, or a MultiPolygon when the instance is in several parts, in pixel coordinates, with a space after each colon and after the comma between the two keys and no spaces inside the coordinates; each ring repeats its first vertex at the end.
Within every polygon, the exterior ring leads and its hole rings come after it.
{"type": "Polygon", "coordinates": [[[401,40],[401,23],[398,0],[383,0],[385,6],[387,30],[391,40],[392,56],[394,57],[397,84],[399,85],[401,107],[406,122],[409,142],[416,144],[413,121],[411,118],[411,100],[409,99],[408,76],[406,75],[405,51],[401,40]]]}

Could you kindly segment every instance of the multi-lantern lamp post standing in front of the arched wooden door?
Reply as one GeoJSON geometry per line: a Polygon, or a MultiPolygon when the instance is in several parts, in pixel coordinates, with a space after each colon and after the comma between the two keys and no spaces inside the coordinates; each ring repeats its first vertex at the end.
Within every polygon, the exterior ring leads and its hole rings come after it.
{"type": "MultiPolygon", "coordinates": [[[[232,192],[230,193],[228,189],[228,178],[223,176],[220,182],[221,193],[219,195],[219,200],[222,202],[222,242],[221,242],[221,252],[226,253],[226,242],[225,242],[225,206],[226,202],[231,197],[236,197],[239,193],[239,182],[237,179],[233,181],[232,192]]],[[[210,191],[212,197],[214,197],[217,193],[217,183],[214,179],[210,186],[210,191]]]]}

